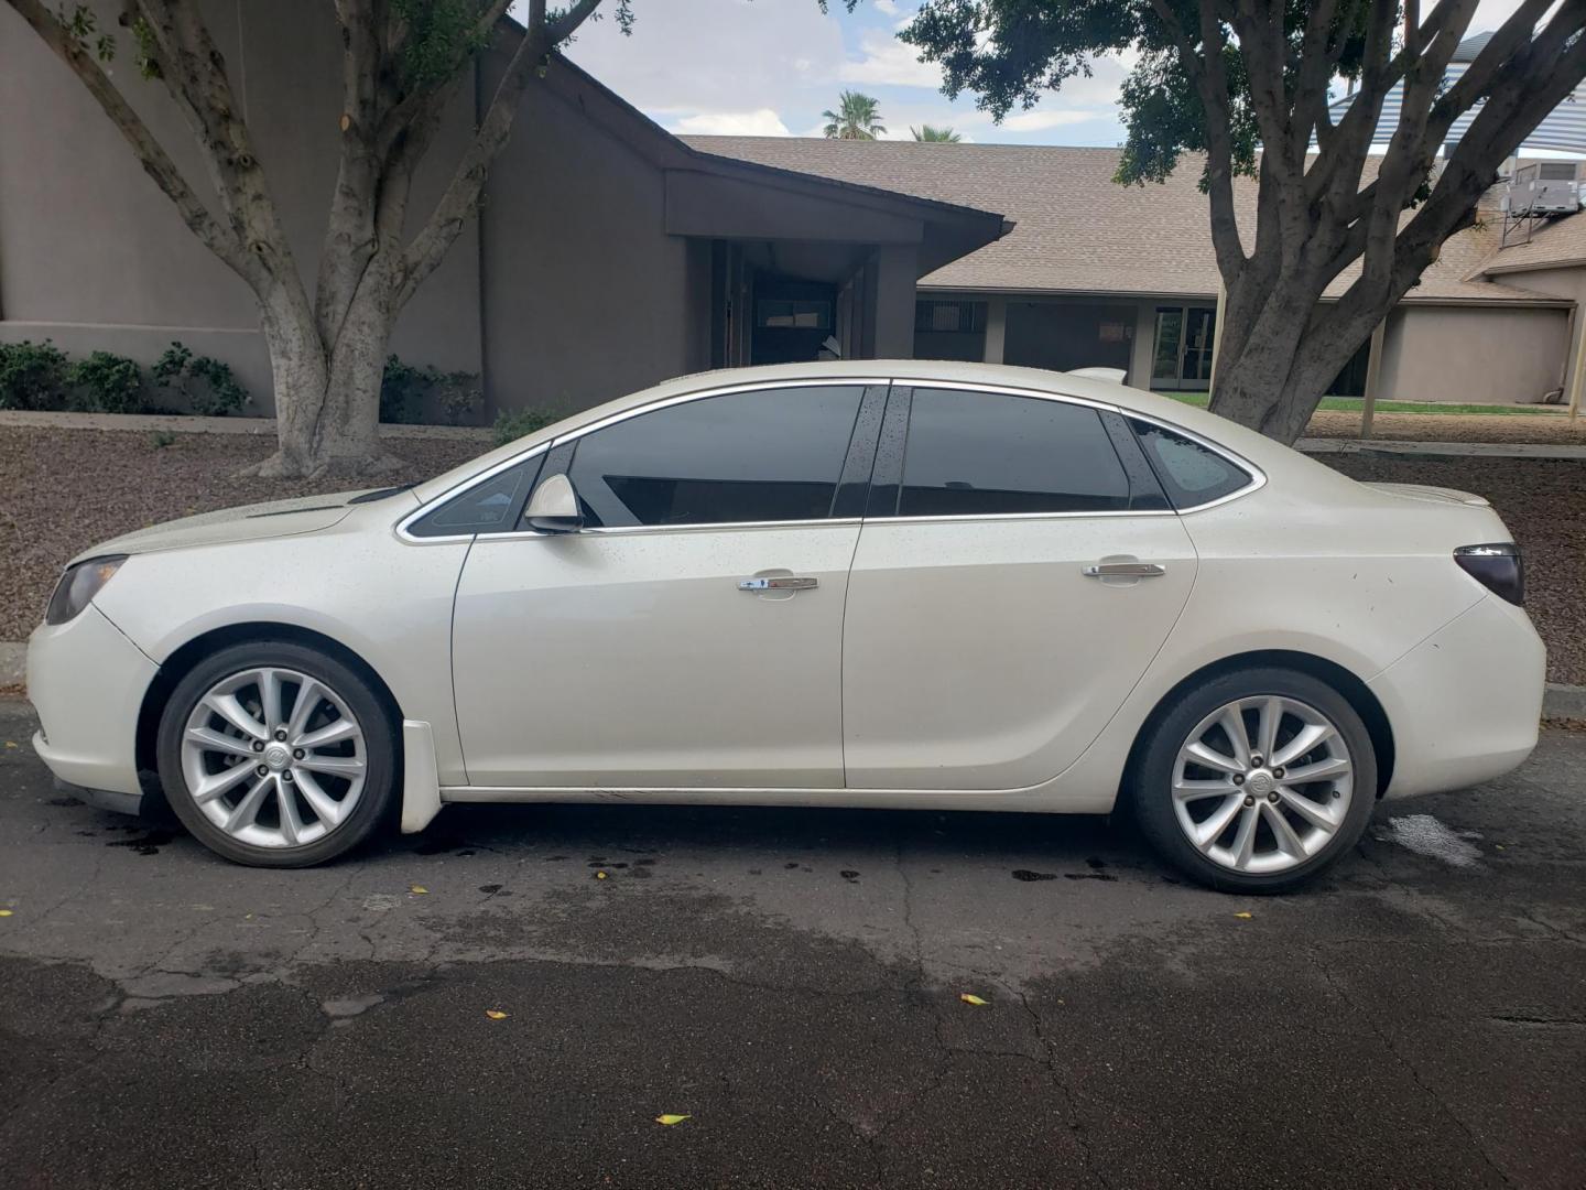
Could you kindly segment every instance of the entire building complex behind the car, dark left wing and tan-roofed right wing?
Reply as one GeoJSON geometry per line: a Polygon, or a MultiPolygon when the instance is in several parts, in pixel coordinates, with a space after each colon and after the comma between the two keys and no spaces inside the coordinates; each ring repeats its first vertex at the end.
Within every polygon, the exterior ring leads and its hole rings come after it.
{"type": "MultiPolygon", "coordinates": [[[[113,6],[100,6],[111,24],[113,6]]],[[[312,276],[336,168],[333,17],[314,0],[268,11],[213,0],[206,14],[312,276]]],[[[439,195],[519,33],[504,22],[471,68],[416,213],[439,195]]],[[[163,89],[121,86],[203,192],[163,89]]],[[[485,419],[833,347],[1117,367],[1140,387],[1205,389],[1218,274],[1199,170],[1186,162],[1164,186],[1121,187],[1117,163],[1117,149],[679,138],[557,59],[528,92],[479,219],[404,311],[392,351],[479,373],[485,419]]],[[[1586,216],[1504,248],[1497,192],[1489,200],[1335,392],[1359,393],[1372,357],[1383,398],[1538,400],[1567,384],[1586,216]]],[[[1253,216],[1248,179],[1239,202],[1253,216]]],[[[181,340],[230,362],[268,409],[246,286],[0,6],[0,341],[43,338],[141,360],[181,340]]]]}

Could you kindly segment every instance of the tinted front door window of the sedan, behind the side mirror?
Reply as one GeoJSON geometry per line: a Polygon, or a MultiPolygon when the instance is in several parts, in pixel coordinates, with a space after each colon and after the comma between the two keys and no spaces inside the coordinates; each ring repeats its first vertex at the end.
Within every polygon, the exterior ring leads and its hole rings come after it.
{"type": "Polygon", "coordinates": [[[585,435],[568,468],[585,524],[823,519],[831,514],[863,392],[734,392],[585,435]]]}

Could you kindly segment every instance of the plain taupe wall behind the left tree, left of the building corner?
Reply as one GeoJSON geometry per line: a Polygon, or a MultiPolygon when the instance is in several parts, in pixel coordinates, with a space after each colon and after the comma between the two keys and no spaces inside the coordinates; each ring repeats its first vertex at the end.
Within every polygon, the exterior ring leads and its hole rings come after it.
{"type": "MultiPolygon", "coordinates": [[[[117,29],[119,5],[94,8],[103,29],[117,29]]],[[[341,108],[330,6],[208,0],[203,8],[312,284],[341,108]]],[[[124,33],[113,78],[193,189],[211,194],[186,121],[160,83],[138,78],[124,33]]],[[[192,236],[98,105],[5,5],[0,113],[0,340],[52,338],[71,352],[103,347],[149,362],[181,338],[232,363],[268,411],[270,363],[247,286],[192,236]]],[[[471,121],[465,86],[419,173],[416,213],[439,197],[446,146],[471,121]]],[[[477,265],[469,225],[403,313],[392,349],[414,363],[479,371],[477,265]]]]}

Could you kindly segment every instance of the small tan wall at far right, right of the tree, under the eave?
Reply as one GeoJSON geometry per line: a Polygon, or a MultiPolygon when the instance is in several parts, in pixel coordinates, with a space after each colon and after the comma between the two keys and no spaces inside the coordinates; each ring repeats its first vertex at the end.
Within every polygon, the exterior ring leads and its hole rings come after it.
{"type": "Polygon", "coordinates": [[[1400,306],[1388,316],[1378,398],[1535,400],[1559,387],[1569,313],[1550,308],[1400,306]]]}

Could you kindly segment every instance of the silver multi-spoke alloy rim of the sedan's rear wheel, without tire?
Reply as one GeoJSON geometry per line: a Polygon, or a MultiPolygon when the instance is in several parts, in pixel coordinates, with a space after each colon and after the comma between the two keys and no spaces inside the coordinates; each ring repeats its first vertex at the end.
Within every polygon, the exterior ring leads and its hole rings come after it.
{"type": "Polygon", "coordinates": [[[1226,703],[1196,725],[1174,763],[1174,814],[1213,863],[1264,874],[1294,868],[1339,833],[1354,797],[1348,744],[1296,698],[1226,703]]]}

